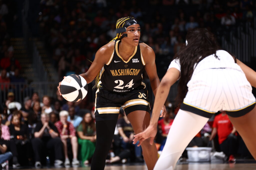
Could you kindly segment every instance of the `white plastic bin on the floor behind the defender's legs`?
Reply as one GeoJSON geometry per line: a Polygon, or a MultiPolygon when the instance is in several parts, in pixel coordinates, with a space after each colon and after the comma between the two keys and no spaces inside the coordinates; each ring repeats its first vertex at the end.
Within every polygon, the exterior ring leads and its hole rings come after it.
{"type": "Polygon", "coordinates": [[[193,147],[186,148],[188,152],[189,162],[210,162],[210,153],[212,148],[207,147],[193,147]]]}

